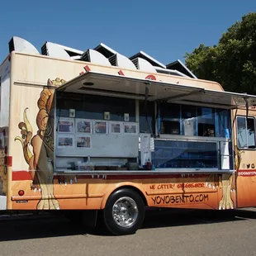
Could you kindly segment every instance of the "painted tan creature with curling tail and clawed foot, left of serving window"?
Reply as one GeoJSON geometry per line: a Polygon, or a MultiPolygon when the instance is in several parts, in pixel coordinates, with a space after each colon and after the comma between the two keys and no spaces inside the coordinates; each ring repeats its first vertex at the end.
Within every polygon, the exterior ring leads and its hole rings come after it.
{"type": "Polygon", "coordinates": [[[19,140],[22,145],[24,159],[29,165],[31,173],[31,189],[39,189],[41,199],[37,204],[37,210],[59,210],[59,201],[54,195],[54,97],[55,88],[66,81],[60,78],[48,79],[47,87],[40,92],[37,102],[39,111],[36,116],[38,127],[36,135],[33,135],[31,123],[23,113],[23,121],[18,125],[21,130],[19,140]],[[32,152],[31,152],[32,151],[32,152]]]}

